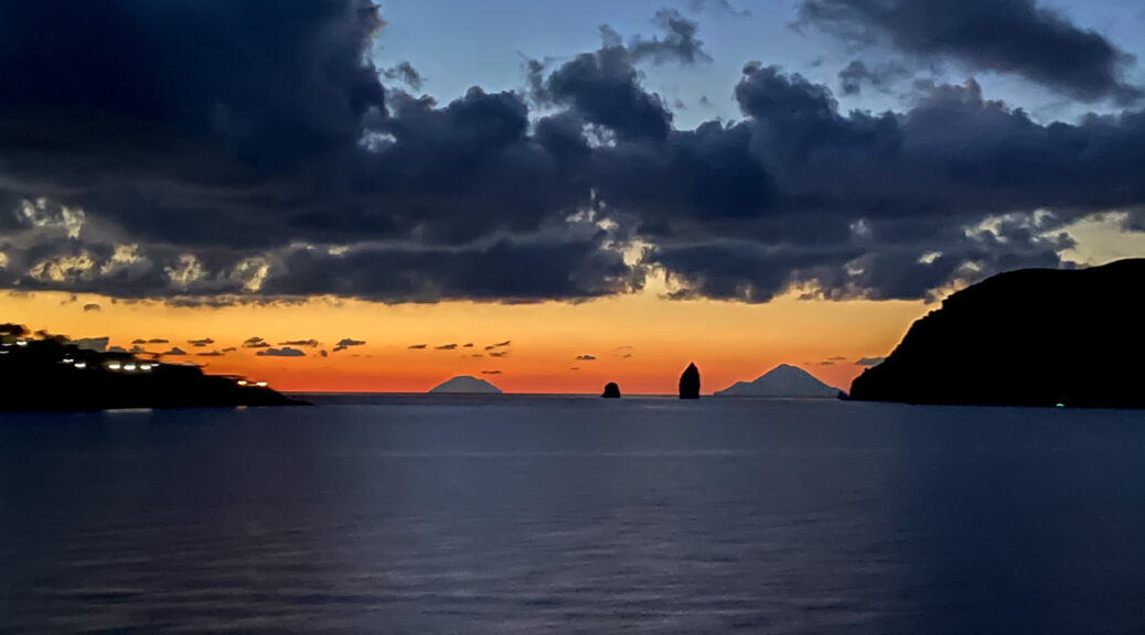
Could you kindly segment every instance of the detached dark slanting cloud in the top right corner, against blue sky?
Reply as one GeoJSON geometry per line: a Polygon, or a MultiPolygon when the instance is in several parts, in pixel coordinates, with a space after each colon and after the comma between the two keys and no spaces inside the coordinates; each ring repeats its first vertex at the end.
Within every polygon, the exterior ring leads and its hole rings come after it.
{"type": "Polygon", "coordinates": [[[1135,101],[1131,56],[1036,0],[803,0],[799,19],[860,43],[1017,73],[1081,100],[1135,101]]]}

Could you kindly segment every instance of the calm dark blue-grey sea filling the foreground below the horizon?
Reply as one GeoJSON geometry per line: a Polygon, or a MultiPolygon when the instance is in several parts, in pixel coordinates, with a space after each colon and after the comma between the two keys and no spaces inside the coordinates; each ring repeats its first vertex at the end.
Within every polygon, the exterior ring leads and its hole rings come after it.
{"type": "Polygon", "coordinates": [[[1145,415],[0,414],[3,633],[1145,633],[1145,415]]]}

